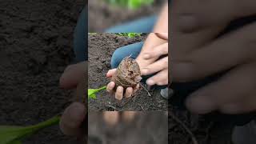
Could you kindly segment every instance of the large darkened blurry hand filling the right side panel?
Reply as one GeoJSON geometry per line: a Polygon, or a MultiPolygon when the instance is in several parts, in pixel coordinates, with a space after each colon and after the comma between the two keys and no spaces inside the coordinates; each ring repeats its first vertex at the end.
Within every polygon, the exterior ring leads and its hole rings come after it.
{"type": "Polygon", "coordinates": [[[228,70],[186,99],[190,111],[242,114],[256,110],[256,22],[222,34],[230,22],[255,14],[255,6],[252,0],[172,3],[173,82],[192,82],[228,70]]]}

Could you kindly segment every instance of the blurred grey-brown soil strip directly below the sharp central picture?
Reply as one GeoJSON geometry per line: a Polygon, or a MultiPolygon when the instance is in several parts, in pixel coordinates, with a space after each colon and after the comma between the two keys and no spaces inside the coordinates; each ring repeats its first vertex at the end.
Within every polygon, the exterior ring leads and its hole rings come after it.
{"type": "Polygon", "coordinates": [[[109,126],[101,112],[89,113],[88,144],[167,144],[167,122],[164,112],[137,112],[132,122],[109,126]]]}

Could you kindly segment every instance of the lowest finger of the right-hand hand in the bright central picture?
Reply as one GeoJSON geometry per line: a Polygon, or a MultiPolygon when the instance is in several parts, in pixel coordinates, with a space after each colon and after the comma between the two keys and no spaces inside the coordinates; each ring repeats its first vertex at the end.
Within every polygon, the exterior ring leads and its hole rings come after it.
{"type": "Polygon", "coordinates": [[[148,78],[146,80],[146,84],[149,86],[153,86],[155,84],[158,86],[168,85],[168,69],[162,70],[153,77],[148,78]]]}

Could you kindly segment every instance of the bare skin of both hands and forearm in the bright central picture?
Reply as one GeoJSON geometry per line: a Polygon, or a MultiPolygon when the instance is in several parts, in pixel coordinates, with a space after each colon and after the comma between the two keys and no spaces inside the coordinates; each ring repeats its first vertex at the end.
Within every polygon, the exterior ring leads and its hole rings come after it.
{"type": "MultiPolygon", "coordinates": [[[[146,38],[146,41],[142,47],[140,54],[136,58],[142,75],[154,74],[151,78],[146,80],[148,86],[158,85],[164,86],[168,84],[168,33],[151,33],[146,38]],[[164,58],[160,58],[162,55],[167,55],[164,58]]],[[[116,69],[109,70],[106,74],[107,78],[111,78],[116,69]]],[[[107,85],[106,90],[110,93],[114,93],[114,82],[110,82],[107,85]]],[[[118,86],[114,95],[115,98],[121,100],[123,97],[129,98],[138,90],[138,86],[135,90],[128,87],[126,93],[123,95],[123,87],[118,86]]]]}

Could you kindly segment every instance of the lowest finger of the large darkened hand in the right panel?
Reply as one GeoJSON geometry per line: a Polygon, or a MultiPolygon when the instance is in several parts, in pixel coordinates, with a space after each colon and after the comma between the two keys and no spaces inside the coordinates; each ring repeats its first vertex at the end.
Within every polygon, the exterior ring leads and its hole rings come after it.
{"type": "Polygon", "coordinates": [[[226,104],[242,102],[254,91],[256,65],[239,66],[220,78],[194,92],[186,99],[186,107],[197,114],[222,110],[226,104]]]}

